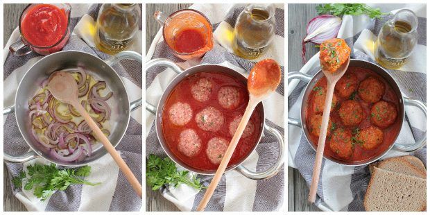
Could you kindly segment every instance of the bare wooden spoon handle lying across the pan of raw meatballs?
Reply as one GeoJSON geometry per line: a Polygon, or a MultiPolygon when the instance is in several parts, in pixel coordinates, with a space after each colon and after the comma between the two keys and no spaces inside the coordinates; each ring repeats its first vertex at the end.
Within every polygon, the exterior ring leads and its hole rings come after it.
{"type": "Polygon", "coordinates": [[[230,162],[230,159],[232,158],[234,149],[236,148],[237,143],[239,142],[239,139],[241,139],[243,130],[245,130],[246,124],[248,123],[252,115],[252,112],[254,112],[254,109],[258,103],[259,101],[252,99],[252,96],[250,96],[250,101],[248,102],[248,106],[246,107],[246,110],[243,113],[241,122],[239,123],[239,126],[237,126],[237,130],[236,132],[234,132],[232,140],[230,141],[230,144],[227,150],[225,151],[223,160],[221,160],[221,164],[219,164],[218,169],[216,169],[214,178],[212,179],[211,184],[209,184],[209,187],[207,187],[205,195],[203,196],[203,199],[200,201],[200,204],[197,207],[198,212],[202,212],[205,210],[207,203],[209,203],[210,198],[214,194],[216,186],[218,186],[218,183],[221,180],[221,177],[223,176],[225,169],[227,168],[227,164],[228,162],[230,162]]]}

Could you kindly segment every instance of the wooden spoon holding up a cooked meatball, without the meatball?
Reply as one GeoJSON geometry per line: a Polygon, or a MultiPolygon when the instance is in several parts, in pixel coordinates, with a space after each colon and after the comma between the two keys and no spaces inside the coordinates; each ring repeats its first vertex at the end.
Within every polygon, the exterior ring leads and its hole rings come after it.
{"type": "MultiPolygon", "coordinates": [[[[327,127],[329,126],[330,108],[332,107],[332,99],[334,93],[334,86],[339,79],[345,74],[346,69],[350,65],[350,58],[339,67],[336,71],[331,72],[322,69],[325,78],[327,78],[327,93],[325,94],[324,112],[322,113],[322,122],[320,127],[320,137],[318,139],[318,147],[316,148],[315,163],[313,164],[311,189],[309,191],[308,201],[315,203],[316,189],[318,188],[318,181],[320,180],[322,155],[324,154],[325,139],[327,137],[327,127]]],[[[323,68],[323,67],[322,67],[323,68]]]]}

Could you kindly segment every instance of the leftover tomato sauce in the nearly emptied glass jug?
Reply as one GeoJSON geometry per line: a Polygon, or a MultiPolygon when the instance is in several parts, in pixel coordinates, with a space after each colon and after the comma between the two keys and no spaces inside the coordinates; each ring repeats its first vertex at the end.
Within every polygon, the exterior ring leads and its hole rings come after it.
{"type": "Polygon", "coordinates": [[[184,29],[175,35],[175,51],[191,53],[205,46],[205,36],[197,29],[184,29]]]}

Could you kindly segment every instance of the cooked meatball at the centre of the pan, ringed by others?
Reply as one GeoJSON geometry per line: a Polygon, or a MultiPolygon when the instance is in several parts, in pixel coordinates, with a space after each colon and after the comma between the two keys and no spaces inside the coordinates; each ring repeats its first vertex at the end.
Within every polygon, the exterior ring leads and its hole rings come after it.
{"type": "Polygon", "coordinates": [[[339,117],[344,126],[358,126],[364,118],[363,108],[357,101],[344,101],[339,108],[339,117]]]}

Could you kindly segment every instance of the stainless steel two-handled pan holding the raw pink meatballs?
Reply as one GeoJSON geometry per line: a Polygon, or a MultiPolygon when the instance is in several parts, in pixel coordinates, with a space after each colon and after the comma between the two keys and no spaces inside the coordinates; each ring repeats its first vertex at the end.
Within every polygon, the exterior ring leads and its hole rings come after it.
{"type": "MultiPolygon", "coordinates": [[[[229,74],[230,76],[234,76],[235,78],[241,80],[245,84],[247,83],[246,77],[244,77],[238,71],[234,71],[233,69],[230,69],[228,67],[223,67],[220,65],[209,65],[209,64],[197,65],[195,67],[191,67],[189,69],[182,71],[182,69],[180,69],[180,67],[178,67],[178,65],[175,65],[175,63],[170,61],[170,60],[154,59],[154,60],[150,60],[150,61],[146,62],[146,70],[148,70],[150,67],[155,67],[155,66],[170,67],[171,69],[173,69],[173,71],[175,71],[178,74],[178,76],[175,76],[175,78],[173,78],[173,80],[171,80],[171,83],[169,83],[169,86],[163,92],[163,95],[160,98],[160,101],[158,102],[157,107],[155,107],[154,105],[151,105],[148,102],[146,103],[146,110],[155,114],[155,123],[156,123],[155,128],[157,130],[157,136],[158,136],[158,139],[160,140],[160,144],[161,144],[162,148],[164,149],[166,154],[169,155],[171,160],[173,160],[176,164],[179,164],[180,166],[184,167],[184,169],[188,169],[189,171],[193,171],[193,172],[203,174],[203,175],[214,175],[214,173],[216,171],[203,171],[201,169],[195,169],[192,166],[184,164],[184,162],[181,162],[178,158],[175,157],[175,155],[173,153],[171,153],[169,146],[167,146],[166,141],[164,141],[164,136],[163,136],[163,132],[162,132],[162,128],[161,128],[162,110],[164,107],[164,102],[166,101],[167,97],[171,93],[172,89],[181,80],[183,80],[184,78],[186,78],[188,76],[191,76],[192,74],[196,74],[196,73],[201,72],[201,71],[218,71],[218,72],[222,72],[225,74],[229,74]]],[[[246,158],[249,157],[250,154],[248,154],[245,158],[243,158],[243,160],[241,160],[241,162],[239,162],[239,164],[230,166],[229,168],[226,169],[226,171],[231,171],[234,169],[236,171],[239,171],[239,173],[242,173],[243,175],[245,175],[248,178],[264,179],[264,178],[269,178],[273,175],[276,175],[276,173],[278,173],[279,170],[281,169],[282,164],[284,164],[284,137],[282,137],[282,135],[275,128],[272,128],[272,127],[266,125],[266,123],[264,122],[263,103],[260,103],[257,107],[259,107],[261,110],[260,116],[261,116],[261,122],[262,122],[260,125],[261,126],[260,127],[261,133],[259,134],[259,140],[261,139],[261,136],[263,135],[263,130],[266,130],[271,135],[274,135],[276,137],[277,142],[279,144],[279,156],[277,157],[277,161],[275,162],[275,164],[273,164],[273,166],[271,166],[267,170],[262,171],[260,173],[256,173],[256,172],[250,171],[249,169],[246,169],[245,166],[241,165],[241,163],[244,162],[246,160],[246,158]]],[[[257,147],[257,143],[255,144],[254,148],[255,147],[257,147]]],[[[251,150],[251,152],[252,152],[252,150],[251,150]]]]}

